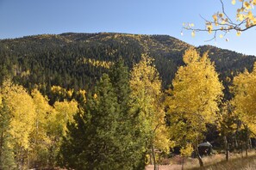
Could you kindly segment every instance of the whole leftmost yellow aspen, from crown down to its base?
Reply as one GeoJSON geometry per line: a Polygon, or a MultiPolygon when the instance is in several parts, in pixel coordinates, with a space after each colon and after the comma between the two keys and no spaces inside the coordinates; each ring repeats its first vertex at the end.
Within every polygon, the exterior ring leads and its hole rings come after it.
{"type": "Polygon", "coordinates": [[[22,86],[10,80],[3,82],[1,93],[5,114],[9,114],[9,148],[16,158],[17,168],[27,166],[29,136],[35,123],[35,106],[32,97],[22,86]]]}

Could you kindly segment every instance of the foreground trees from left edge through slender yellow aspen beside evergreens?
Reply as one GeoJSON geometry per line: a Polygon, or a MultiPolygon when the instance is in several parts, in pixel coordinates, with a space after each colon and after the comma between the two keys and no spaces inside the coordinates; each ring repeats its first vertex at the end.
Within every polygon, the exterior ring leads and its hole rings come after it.
{"type": "Polygon", "coordinates": [[[147,55],[131,74],[120,59],[87,98],[59,86],[51,93],[52,105],[37,89],[3,81],[1,169],[143,169],[149,150],[169,149],[161,81],[147,55]]]}

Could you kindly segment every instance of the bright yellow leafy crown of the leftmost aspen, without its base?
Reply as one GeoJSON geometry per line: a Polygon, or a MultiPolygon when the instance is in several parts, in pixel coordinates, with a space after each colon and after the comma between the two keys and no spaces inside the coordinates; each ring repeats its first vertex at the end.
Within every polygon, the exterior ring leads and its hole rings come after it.
{"type": "Polygon", "coordinates": [[[35,120],[34,101],[25,88],[10,80],[3,82],[1,93],[11,115],[9,133],[14,139],[13,143],[28,149],[35,120]]]}

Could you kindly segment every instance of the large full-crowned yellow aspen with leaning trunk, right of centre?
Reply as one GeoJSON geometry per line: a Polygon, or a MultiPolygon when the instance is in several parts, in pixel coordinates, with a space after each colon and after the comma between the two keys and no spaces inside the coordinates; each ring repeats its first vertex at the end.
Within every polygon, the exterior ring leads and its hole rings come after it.
{"type": "Polygon", "coordinates": [[[201,58],[194,48],[190,48],[184,52],[183,59],[185,65],[179,67],[165,100],[170,133],[177,145],[192,143],[200,166],[203,166],[197,144],[203,139],[206,124],[215,123],[223,87],[207,53],[201,58]]]}

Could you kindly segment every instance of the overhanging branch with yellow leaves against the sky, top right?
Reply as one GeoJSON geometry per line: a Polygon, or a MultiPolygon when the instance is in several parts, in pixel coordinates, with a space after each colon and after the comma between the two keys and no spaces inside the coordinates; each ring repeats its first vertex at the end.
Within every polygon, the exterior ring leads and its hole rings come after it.
{"type": "Polygon", "coordinates": [[[256,26],[254,10],[256,0],[230,0],[230,2],[234,5],[234,15],[229,15],[225,12],[226,5],[224,1],[221,1],[222,9],[216,11],[209,20],[204,19],[206,21],[204,28],[194,28],[191,27],[190,23],[184,23],[184,29],[190,30],[192,36],[195,36],[195,31],[214,32],[213,39],[215,39],[217,32],[222,32],[224,36],[226,36],[227,33],[233,30],[236,35],[240,36],[240,32],[247,31],[247,29],[256,26]],[[236,21],[234,21],[233,18],[236,18],[236,21]]]}

